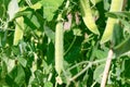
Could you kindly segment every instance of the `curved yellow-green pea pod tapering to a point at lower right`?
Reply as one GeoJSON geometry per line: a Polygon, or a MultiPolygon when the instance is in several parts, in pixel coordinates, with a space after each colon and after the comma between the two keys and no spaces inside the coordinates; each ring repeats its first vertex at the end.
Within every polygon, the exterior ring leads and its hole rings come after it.
{"type": "Polygon", "coordinates": [[[100,35],[98,26],[95,25],[94,18],[92,16],[90,1],[89,0],[80,0],[80,10],[82,14],[82,20],[86,26],[94,34],[100,35]]]}

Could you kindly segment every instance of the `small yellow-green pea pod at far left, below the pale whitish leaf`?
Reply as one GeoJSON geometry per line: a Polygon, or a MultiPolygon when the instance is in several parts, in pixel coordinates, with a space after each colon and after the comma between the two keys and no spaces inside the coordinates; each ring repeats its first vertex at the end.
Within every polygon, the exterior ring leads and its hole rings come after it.
{"type": "Polygon", "coordinates": [[[14,46],[16,46],[20,42],[20,40],[23,39],[24,17],[23,16],[17,17],[15,23],[16,26],[15,26],[14,40],[13,40],[14,46]]]}

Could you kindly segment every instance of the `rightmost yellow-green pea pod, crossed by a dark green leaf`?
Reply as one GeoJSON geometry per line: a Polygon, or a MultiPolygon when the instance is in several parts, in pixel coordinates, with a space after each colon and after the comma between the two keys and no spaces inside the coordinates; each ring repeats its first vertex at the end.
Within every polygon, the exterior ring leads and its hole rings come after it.
{"type": "MultiPolygon", "coordinates": [[[[112,0],[109,12],[119,12],[122,9],[123,0],[112,0]]],[[[118,18],[108,17],[105,32],[102,36],[101,44],[112,39],[114,26],[118,23],[118,18]]]]}

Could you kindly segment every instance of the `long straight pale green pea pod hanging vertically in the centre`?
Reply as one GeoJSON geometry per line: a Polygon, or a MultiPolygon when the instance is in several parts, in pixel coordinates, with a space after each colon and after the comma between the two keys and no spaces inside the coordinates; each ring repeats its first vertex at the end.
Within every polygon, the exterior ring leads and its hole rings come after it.
{"type": "Polygon", "coordinates": [[[63,22],[62,14],[58,14],[57,24],[55,27],[55,70],[60,75],[63,70],[63,22]]]}

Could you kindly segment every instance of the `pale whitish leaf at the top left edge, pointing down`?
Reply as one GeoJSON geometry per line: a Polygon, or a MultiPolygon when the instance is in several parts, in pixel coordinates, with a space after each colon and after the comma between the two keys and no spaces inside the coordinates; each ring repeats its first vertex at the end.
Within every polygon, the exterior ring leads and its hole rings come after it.
{"type": "Polygon", "coordinates": [[[18,12],[17,0],[11,0],[8,5],[8,14],[9,14],[10,21],[15,16],[17,12],[18,12]]]}

